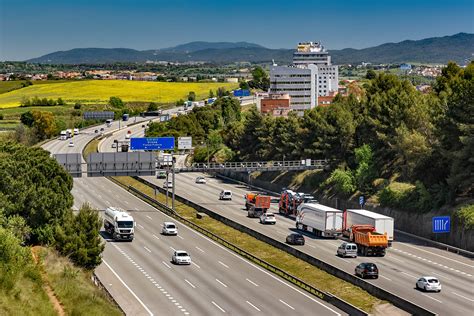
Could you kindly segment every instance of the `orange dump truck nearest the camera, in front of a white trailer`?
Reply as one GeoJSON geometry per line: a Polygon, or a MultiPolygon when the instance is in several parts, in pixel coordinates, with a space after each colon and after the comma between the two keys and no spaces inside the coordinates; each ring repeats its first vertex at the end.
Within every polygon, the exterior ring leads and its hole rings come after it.
{"type": "Polygon", "coordinates": [[[385,256],[388,247],[387,233],[380,234],[371,225],[354,225],[350,229],[350,240],[357,244],[358,252],[365,256],[385,256]]]}

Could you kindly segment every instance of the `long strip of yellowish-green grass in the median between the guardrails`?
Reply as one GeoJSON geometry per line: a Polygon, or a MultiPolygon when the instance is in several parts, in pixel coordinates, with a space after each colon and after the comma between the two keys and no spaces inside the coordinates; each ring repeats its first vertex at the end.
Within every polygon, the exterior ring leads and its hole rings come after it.
{"type": "MultiPolygon", "coordinates": [[[[154,190],[151,187],[131,177],[114,178],[124,185],[131,185],[149,196],[154,196],[154,190]]],[[[158,194],[156,199],[164,204],[166,196],[164,194],[158,194]]],[[[330,292],[364,311],[372,312],[377,305],[386,303],[348,282],[342,281],[303,260],[226,226],[217,220],[208,216],[197,219],[196,210],[185,204],[175,201],[175,207],[176,211],[184,218],[224,238],[245,251],[252,253],[260,259],[296,276],[306,283],[320,290],[330,292]]]]}

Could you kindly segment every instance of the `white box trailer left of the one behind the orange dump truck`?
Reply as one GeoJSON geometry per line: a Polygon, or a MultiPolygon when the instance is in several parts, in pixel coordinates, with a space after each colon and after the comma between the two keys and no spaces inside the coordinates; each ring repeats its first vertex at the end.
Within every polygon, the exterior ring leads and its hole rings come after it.
{"type": "Polygon", "coordinates": [[[318,203],[303,203],[298,206],[296,228],[322,237],[342,234],[343,212],[318,203]]]}

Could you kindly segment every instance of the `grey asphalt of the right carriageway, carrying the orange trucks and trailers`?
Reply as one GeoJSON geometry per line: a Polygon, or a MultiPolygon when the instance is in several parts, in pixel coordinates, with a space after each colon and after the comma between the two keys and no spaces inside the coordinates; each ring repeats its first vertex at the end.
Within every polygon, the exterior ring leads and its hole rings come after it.
{"type": "MultiPolygon", "coordinates": [[[[132,128],[131,131],[134,136],[143,136],[142,130],[132,128]]],[[[121,133],[117,133],[117,137],[120,135],[121,133]]],[[[110,151],[111,141],[111,139],[104,141],[100,150],[110,151]]],[[[155,177],[143,178],[160,186],[164,182],[155,177]]],[[[248,218],[244,208],[244,195],[249,190],[242,185],[210,178],[205,174],[180,173],[176,175],[175,190],[177,194],[199,205],[274,239],[285,241],[289,233],[296,231],[294,220],[281,215],[277,215],[277,224],[274,226],[261,225],[258,219],[248,218]],[[197,176],[205,176],[207,184],[196,184],[197,176]],[[233,192],[232,201],[218,200],[218,194],[222,189],[233,192]]],[[[271,210],[278,213],[275,205],[271,210]]],[[[305,246],[296,247],[349,273],[353,273],[355,266],[361,262],[374,262],[379,267],[380,277],[367,282],[374,283],[440,315],[470,314],[474,307],[473,260],[437,248],[418,245],[416,240],[400,236],[396,236],[395,239],[383,258],[339,258],[335,254],[341,241],[320,239],[311,235],[306,235],[305,246]],[[443,286],[441,293],[424,293],[415,289],[417,279],[426,275],[439,278],[443,286]]]]}

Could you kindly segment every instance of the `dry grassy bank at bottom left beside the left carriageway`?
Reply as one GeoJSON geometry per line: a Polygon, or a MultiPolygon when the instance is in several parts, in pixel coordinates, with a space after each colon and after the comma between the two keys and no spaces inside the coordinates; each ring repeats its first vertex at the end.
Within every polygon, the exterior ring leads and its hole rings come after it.
{"type": "Polygon", "coordinates": [[[91,272],[76,268],[67,258],[42,248],[41,263],[48,282],[66,315],[122,315],[106,294],[91,281],[91,272]]]}

